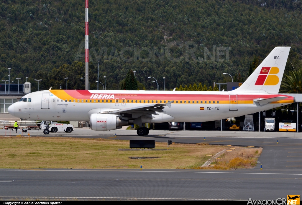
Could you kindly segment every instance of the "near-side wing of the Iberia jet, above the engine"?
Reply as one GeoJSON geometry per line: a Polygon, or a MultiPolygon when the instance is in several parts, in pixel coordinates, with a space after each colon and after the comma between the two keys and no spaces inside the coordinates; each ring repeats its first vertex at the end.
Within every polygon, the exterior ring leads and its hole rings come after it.
{"type": "Polygon", "coordinates": [[[130,108],[125,108],[125,109],[120,109],[120,110],[113,110],[113,111],[105,111],[105,112],[100,112],[104,114],[121,114],[121,113],[144,113],[148,116],[150,115],[158,115],[156,112],[161,112],[165,113],[163,110],[165,107],[168,106],[171,108],[171,103],[174,101],[170,101],[166,104],[148,104],[144,106],[138,106],[138,107],[130,107],[130,108]]]}

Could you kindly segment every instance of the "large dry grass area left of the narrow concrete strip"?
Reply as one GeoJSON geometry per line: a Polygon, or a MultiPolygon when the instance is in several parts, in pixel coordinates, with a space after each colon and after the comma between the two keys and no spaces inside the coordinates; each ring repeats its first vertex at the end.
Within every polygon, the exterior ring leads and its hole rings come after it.
{"type": "MultiPolygon", "coordinates": [[[[117,151],[129,148],[129,140],[0,137],[0,168],[37,169],[183,169],[201,166],[228,147],[220,145],[172,144],[169,151],[117,151]],[[128,157],[160,157],[129,159],[128,157]]],[[[156,149],[167,143],[156,142],[156,149]]]]}

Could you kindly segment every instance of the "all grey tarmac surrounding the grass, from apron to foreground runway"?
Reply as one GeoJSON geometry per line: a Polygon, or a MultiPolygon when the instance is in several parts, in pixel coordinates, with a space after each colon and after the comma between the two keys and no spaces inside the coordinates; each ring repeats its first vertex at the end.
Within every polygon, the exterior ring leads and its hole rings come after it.
{"type": "MultiPolygon", "coordinates": [[[[164,142],[169,139],[176,143],[205,142],[263,147],[263,151],[258,159],[259,164],[249,170],[1,169],[0,198],[248,200],[251,197],[253,200],[275,200],[278,197],[286,197],[287,194],[301,194],[302,134],[300,133],[286,135],[279,132],[169,133],[171,131],[164,131],[165,134],[158,135],[159,133],[150,131],[151,135],[140,137],[134,135],[133,130],[130,132],[124,130],[115,137],[112,133],[92,135],[88,129],[81,132],[84,131],[86,133],[55,133],[54,136],[123,140],[154,139],[164,142]],[[122,133],[126,134],[122,135],[122,133]],[[205,140],[204,136],[206,136],[205,140]]],[[[34,135],[32,133],[31,135],[34,135]]],[[[41,134],[37,136],[48,137],[41,134]]]]}

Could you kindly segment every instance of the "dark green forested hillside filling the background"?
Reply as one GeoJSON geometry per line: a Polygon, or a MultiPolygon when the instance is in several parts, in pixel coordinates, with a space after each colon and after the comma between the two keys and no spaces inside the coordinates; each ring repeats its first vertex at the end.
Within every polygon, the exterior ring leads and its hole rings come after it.
{"type": "MultiPolygon", "coordinates": [[[[0,77],[43,79],[40,89],[84,89],[85,0],[2,0],[0,77]]],[[[286,72],[301,60],[300,1],[90,0],[90,89],[121,89],[135,70],[139,88],[207,86],[248,77],[253,60],[291,46],[286,72]],[[214,51],[213,51],[214,50],[214,51]],[[208,51],[208,52],[207,52],[208,51]],[[212,55],[212,58],[210,58],[212,55]],[[219,54],[217,57],[217,53],[219,54]],[[206,57],[206,58],[205,58],[206,57]],[[101,87],[102,88],[102,85],[101,87]]]]}

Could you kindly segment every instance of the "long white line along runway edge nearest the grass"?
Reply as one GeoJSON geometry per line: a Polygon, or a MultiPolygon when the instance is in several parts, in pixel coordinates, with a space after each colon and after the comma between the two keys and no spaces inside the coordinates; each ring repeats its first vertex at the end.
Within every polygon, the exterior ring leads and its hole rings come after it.
{"type": "MultiPolygon", "coordinates": [[[[249,172],[182,172],[182,171],[140,171],[140,170],[47,170],[41,169],[41,171],[53,171],[53,172],[156,172],[156,173],[213,173],[213,174],[266,174],[266,175],[302,175],[302,174],[286,174],[286,173],[249,173],[249,172]]],[[[26,169],[0,169],[0,171],[40,171],[40,170],[26,170],[26,169]]]]}

